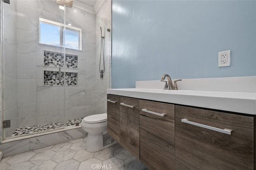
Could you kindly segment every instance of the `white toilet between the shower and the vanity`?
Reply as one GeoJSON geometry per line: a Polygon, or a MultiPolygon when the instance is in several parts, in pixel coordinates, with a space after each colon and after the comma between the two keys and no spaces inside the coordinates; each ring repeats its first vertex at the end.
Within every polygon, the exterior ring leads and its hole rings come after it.
{"type": "Polygon", "coordinates": [[[96,114],[84,117],[81,122],[84,131],[88,132],[85,149],[88,152],[96,152],[111,145],[115,145],[110,139],[107,145],[103,144],[103,133],[107,131],[107,114],[96,114]]]}

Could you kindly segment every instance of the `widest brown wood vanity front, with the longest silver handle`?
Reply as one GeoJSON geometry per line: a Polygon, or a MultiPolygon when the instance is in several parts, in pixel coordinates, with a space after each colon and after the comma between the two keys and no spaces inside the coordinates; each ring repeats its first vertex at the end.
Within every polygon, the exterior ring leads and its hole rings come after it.
{"type": "Polygon", "coordinates": [[[254,162],[254,117],[175,106],[177,170],[253,170],[254,162]],[[219,130],[215,127],[231,129],[231,135],[214,131],[219,130]]]}

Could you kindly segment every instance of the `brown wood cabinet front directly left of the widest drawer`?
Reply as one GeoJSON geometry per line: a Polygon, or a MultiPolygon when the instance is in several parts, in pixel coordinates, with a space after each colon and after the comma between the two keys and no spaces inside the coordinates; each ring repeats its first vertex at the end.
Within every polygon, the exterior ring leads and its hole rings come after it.
{"type": "Polygon", "coordinates": [[[150,170],[174,169],[174,105],[140,100],[140,161],[150,170]]]}

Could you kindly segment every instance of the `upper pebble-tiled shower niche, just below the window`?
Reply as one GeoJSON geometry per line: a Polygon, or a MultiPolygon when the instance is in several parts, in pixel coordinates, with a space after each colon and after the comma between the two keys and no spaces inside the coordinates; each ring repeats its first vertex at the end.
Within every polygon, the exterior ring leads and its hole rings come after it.
{"type": "MultiPolygon", "coordinates": [[[[44,50],[44,66],[63,67],[64,53],[44,50]]],[[[66,54],[66,68],[78,68],[78,55],[66,54]]]]}

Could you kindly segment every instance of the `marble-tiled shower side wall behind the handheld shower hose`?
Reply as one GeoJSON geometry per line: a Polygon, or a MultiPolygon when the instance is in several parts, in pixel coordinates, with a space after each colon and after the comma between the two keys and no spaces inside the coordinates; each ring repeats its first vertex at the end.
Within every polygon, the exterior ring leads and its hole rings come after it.
{"type": "MultiPolygon", "coordinates": [[[[95,80],[95,112],[106,113],[107,110],[107,94],[106,89],[110,88],[110,70],[111,70],[111,1],[106,0],[98,13],[96,14],[96,80],[95,80]],[[105,42],[105,72],[103,79],[100,79],[99,64],[100,64],[100,27],[104,30],[105,42]]],[[[101,62],[102,68],[102,62],[101,62]]]]}

